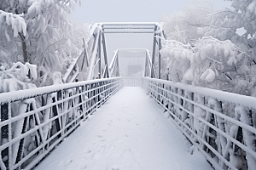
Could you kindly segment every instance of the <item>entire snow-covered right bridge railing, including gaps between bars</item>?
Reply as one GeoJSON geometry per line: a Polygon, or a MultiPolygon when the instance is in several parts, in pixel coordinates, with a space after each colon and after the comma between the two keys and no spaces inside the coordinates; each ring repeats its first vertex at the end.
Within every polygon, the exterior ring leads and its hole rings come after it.
{"type": "Polygon", "coordinates": [[[143,86],[216,169],[256,167],[256,99],[145,77],[143,86]]]}

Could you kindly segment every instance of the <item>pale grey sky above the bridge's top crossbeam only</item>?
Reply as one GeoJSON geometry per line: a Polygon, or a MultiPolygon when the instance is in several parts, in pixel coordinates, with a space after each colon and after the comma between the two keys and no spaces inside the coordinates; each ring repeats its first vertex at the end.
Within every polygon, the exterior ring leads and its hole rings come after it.
{"type": "MultiPolygon", "coordinates": [[[[84,22],[157,22],[163,14],[182,11],[191,0],[81,0],[74,8],[72,20],[84,22]]],[[[230,2],[212,0],[214,9],[230,2]]]]}

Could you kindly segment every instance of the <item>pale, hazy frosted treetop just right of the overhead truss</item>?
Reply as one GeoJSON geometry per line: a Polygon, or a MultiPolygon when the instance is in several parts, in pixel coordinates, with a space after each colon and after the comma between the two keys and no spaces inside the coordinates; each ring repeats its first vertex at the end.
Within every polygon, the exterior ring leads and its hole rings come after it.
{"type": "Polygon", "coordinates": [[[197,28],[207,25],[207,14],[212,13],[212,3],[207,0],[195,0],[187,3],[184,12],[163,16],[163,29],[167,39],[177,42],[195,42],[201,35],[197,35],[197,28]]]}

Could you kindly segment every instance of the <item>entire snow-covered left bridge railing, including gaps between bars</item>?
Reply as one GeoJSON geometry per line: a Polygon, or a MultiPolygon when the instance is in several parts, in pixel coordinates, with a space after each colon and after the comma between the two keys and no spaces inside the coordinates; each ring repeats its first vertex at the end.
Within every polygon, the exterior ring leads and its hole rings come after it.
{"type": "Polygon", "coordinates": [[[0,169],[31,169],[122,87],[120,77],[0,94],[0,169]]]}

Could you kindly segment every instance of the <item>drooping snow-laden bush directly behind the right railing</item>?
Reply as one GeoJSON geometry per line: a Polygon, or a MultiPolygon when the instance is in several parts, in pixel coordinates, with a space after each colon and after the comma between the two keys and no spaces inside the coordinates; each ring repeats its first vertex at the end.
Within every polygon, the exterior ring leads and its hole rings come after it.
{"type": "Polygon", "coordinates": [[[194,48],[176,41],[166,42],[163,47],[161,54],[166,62],[162,68],[168,71],[169,80],[255,95],[252,58],[230,40],[202,37],[194,48]]]}

